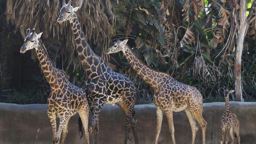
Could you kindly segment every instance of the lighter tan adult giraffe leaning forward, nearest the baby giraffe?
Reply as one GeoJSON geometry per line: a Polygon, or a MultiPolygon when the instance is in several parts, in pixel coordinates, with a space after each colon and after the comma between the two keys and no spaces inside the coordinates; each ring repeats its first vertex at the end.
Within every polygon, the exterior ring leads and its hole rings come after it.
{"type": "Polygon", "coordinates": [[[157,144],[159,133],[161,131],[163,113],[165,112],[169,123],[169,131],[172,136],[172,143],[175,144],[173,111],[185,111],[192,128],[192,144],[195,142],[198,130],[197,123],[202,128],[202,143],[205,144],[205,129],[207,122],[202,116],[203,98],[201,93],[190,85],[182,84],[176,81],[168,73],[159,72],[149,68],[143,63],[132,49],[126,44],[128,40],[116,41],[105,54],[111,54],[122,51],[134,71],[154,89],[153,101],[156,105],[157,126],[156,140],[157,144]]]}

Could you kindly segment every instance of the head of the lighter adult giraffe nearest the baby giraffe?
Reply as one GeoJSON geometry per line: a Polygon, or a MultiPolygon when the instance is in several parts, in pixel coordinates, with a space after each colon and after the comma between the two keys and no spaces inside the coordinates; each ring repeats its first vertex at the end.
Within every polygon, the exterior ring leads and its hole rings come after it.
{"type": "Polygon", "coordinates": [[[122,51],[126,47],[126,43],[128,40],[117,40],[116,42],[113,43],[113,46],[107,49],[107,51],[104,52],[104,54],[113,54],[119,51],[122,51]]]}

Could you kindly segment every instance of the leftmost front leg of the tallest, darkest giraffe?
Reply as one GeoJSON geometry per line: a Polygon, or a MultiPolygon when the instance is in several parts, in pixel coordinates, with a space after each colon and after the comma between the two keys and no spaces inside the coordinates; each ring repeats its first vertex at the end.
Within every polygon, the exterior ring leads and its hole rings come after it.
{"type": "Polygon", "coordinates": [[[97,100],[94,103],[94,110],[92,114],[92,119],[89,125],[89,134],[90,134],[90,140],[91,144],[94,144],[95,138],[94,138],[94,129],[95,125],[98,122],[100,111],[102,110],[104,102],[102,100],[97,100]]]}

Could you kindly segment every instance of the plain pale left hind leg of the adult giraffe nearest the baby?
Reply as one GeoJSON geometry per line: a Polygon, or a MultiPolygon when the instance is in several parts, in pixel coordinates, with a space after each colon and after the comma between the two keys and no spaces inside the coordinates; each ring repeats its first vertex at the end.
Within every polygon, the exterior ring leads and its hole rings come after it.
{"type": "Polygon", "coordinates": [[[196,138],[196,133],[198,130],[196,119],[192,116],[191,112],[188,109],[185,109],[185,112],[188,117],[188,121],[190,123],[191,130],[192,130],[192,142],[191,143],[194,144],[195,138],[196,138]]]}

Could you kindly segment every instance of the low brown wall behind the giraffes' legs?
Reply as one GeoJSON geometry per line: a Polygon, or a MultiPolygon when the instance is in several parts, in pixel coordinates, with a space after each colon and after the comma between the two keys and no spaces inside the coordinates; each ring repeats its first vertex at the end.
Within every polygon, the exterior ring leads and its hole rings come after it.
{"type": "MultiPolygon", "coordinates": [[[[221,139],[221,117],[224,103],[204,104],[206,143],[219,144],[221,139]]],[[[240,120],[241,144],[256,144],[256,103],[230,102],[230,108],[240,120]]],[[[136,105],[137,132],[140,144],[153,144],[156,128],[156,107],[136,105]]],[[[177,144],[191,143],[191,128],[185,112],[174,112],[175,139],[177,144]]],[[[59,120],[57,120],[58,122],[59,120]]],[[[124,140],[124,114],[118,106],[105,105],[99,116],[99,143],[122,144],[124,140]]],[[[68,124],[66,144],[84,144],[78,134],[78,114],[68,124]]],[[[133,135],[131,134],[134,143],[133,135]]],[[[196,144],[202,142],[201,129],[196,136],[196,144]]],[[[236,141],[236,139],[235,139],[236,141]]],[[[0,103],[0,143],[1,144],[46,144],[52,143],[52,129],[47,116],[46,104],[5,104],[0,103]]],[[[171,136],[164,116],[159,136],[160,144],[170,144],[171,136]]]]}

